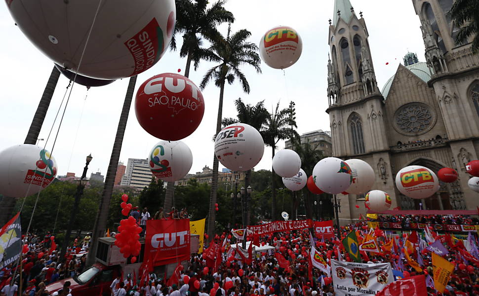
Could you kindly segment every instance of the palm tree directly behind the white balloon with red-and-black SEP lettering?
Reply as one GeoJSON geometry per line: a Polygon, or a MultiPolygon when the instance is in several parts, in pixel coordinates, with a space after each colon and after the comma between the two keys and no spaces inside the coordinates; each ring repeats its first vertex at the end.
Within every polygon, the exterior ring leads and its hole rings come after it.
{"type": "MultiPolygon", "coordinates": [[[[241,122],[246,123],[257,129],[263,136],[264,130],[263,126],[266,124],[266,120],[270,115],[268,110],[264,107],[264,101],[256,103],[255,106],[251,104],[244,105],[244,102],[239,98],[235,101],[236,110],[238,111],[238,119],[234,118],[223,118],[222,125],[227,126],[233,123],[241,122]]],[[[263,136],[264,137],[264,136],[263,136]]],[[[246,172],[244,187],[249,186],[251,180],[251,170],[246,172]]],[[[250,221],[250,211],[249,211],[249,200],[248,194],[244,199],[244,208],[246,216],[243,216],[243,225],[249,225],[250,221]]]]}

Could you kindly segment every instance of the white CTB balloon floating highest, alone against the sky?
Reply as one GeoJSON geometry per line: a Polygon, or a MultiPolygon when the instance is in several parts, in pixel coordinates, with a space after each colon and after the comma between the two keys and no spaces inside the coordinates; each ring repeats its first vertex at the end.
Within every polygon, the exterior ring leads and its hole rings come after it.
{"type": "Polygon", "coordinates": [[[261,59],[274,69],[286,69],[296,63],[303,51],[301,37],[291,27],[268,30],[259,42],[261,59]]]}

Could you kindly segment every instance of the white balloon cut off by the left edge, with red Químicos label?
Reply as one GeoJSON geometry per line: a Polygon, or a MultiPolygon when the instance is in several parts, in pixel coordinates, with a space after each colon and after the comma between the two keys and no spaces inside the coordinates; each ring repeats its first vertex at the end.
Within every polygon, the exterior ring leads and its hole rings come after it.
{"type": "Polygon", "coordinates": [[[0,152],[0,194],[24,198],[45,189],[58,171],[55,158],[36,145],[15,145],[0,152]]]}

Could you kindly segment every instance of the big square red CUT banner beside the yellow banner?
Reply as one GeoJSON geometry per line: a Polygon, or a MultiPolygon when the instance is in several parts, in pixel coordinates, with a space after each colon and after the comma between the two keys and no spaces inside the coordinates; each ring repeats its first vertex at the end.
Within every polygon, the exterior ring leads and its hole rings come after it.
{"type": "Polygon", "coordinates": [[[190,220],[148,220],[145,257],[153,265],[165,265],[190,259],[190,220]]]}

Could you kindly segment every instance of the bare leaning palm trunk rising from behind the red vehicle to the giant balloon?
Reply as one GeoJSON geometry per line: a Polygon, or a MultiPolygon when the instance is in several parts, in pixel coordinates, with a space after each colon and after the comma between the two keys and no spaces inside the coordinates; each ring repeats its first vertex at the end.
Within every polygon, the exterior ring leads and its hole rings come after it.
{"type": "Polygon", "coordinates": [[[100,208],[95,220],[95,226],[90,240],[90,248],[86,266],[91,266],[95,262],[96,249],[98,247],[98,238],[105,233],[108,220],[108,210],[110,209],[110,200],[112,198],[113,186],[115,185],[115,176],[117,175],[118,161],[120,160],[121,145],[123,144],[123,136],[125,134],[126,122],[128,121],[128,113],[130,112],[131,99],[135,90],[136,75],[130,77],[128,88],[126,89],[125,101],[121,110],[120,120],[118,122],[117,135],[113,143],[112,155],[108,165],[105,184],[100,201],[100,208]]]}

